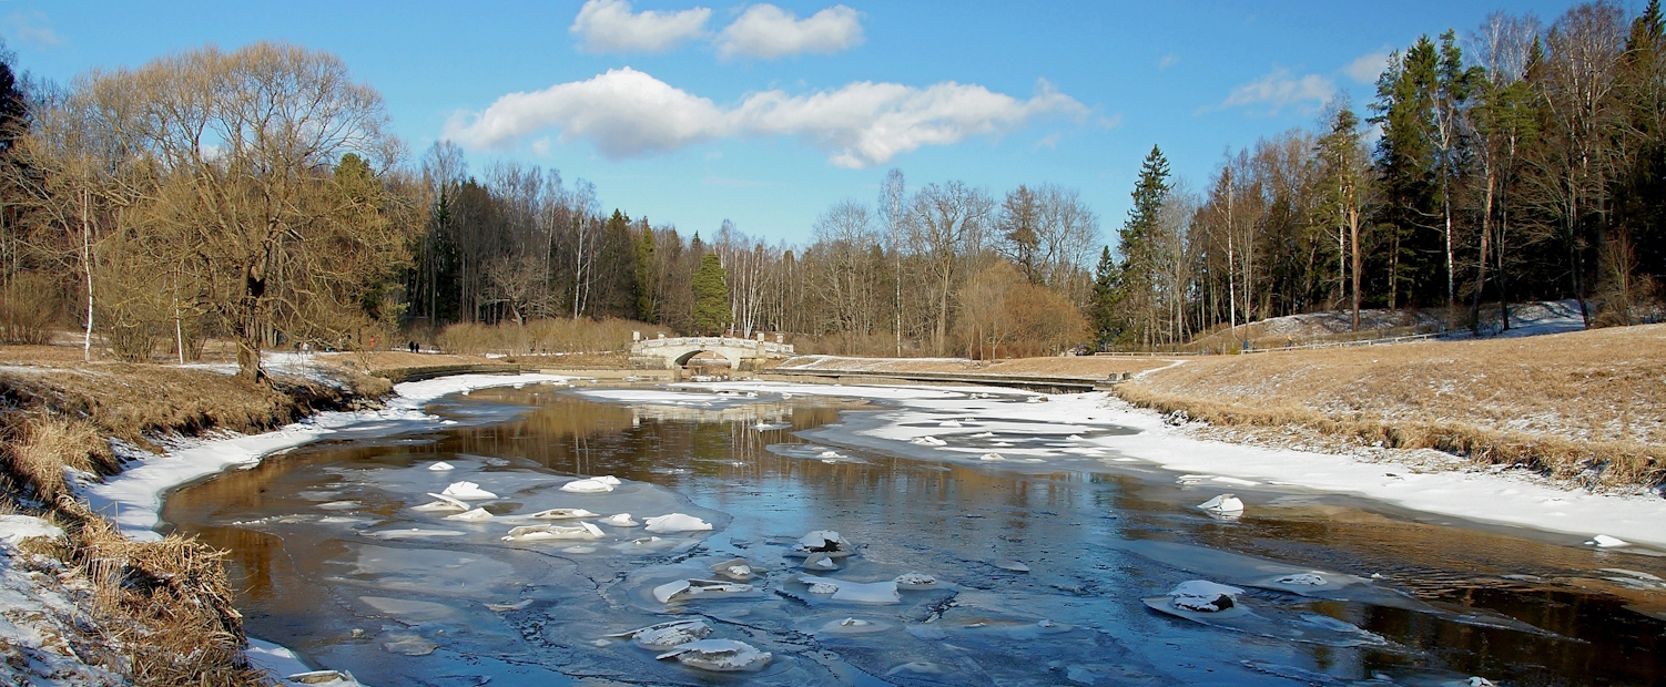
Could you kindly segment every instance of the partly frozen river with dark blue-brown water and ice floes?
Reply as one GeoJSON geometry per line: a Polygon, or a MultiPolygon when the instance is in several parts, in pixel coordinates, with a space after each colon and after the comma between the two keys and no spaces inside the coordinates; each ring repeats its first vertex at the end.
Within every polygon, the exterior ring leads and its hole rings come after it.
{"type": "MultiPolygon", "coordinates": [[[[438,431],[310,444],[177,489],[163,521],[230,551],[252,635],[378,687],[1666,679],[1663,557],[1073,452],[1006,419],[1031,396],[933,394],[935,411],[898,414],[906,399],[483,389],[431,404],[438,431]],[[943,411],[956,396],[970,409],[943,411]],[[921,418],[966,459],[875,431],[921,418]],[[620,484],[560,489],[580,476],[620,484]],[[416,509],[461,481],[496,496],[470,501],[491,519],[416,509]],[[1241,517],[1196,507],[1223,491],[1241,517]],[[591,511],[600,537],[503,539],[578,522],[526,517],[553,507],[591,511]],[[620,512],[713,529],[600,521],[620,512]],[[791,556],[811,531],[855,547],[815,576],[885,594],[811,589],[791,556]],[[758,571],[750,589],[655,597],[735,557],[758,571]],[[911,572],[935,582],[890,592],[911,572]],[[1236,609],[1173,612],[1166,594],[1198,579],[1240,587],[1236,609]],[[666,619],[771,659],[716,674],[606,637],[666,619]]],[[[1060,423],[1071,439],[1126,431],[1060,423]]]]}

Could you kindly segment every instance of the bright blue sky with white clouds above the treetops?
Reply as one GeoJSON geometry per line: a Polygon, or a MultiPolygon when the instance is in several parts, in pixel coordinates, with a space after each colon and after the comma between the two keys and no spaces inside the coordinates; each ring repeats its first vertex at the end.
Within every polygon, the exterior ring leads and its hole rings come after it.
{"type": "Polygon", "coordinates": [[[1111,236],[1153,143],[1201,186],[1228,148],[1311,126],[1329,95],[1363,108],[1381,58],[1421,33],[1568,7],[0,0],[0,35],[57,82],[205,43],[330,50],[383,95],[412,158],[451,138],[471,171],[553,166],[655,225],[728,218],[805,243],[890,168],[910,190],[1078,188],[1111,236]]]}

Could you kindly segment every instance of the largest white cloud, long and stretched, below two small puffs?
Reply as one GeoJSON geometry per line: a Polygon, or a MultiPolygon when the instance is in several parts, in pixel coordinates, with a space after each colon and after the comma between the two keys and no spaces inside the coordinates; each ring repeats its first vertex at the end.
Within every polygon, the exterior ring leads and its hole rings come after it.
{"type": "Polygon", "coordinates": [[[446,138],[503,148],[553,128],[561,143],[588,140],[620,160],[718,138],[796,136],[828,151],[833,165],[863,168],[920,146],[1000,135],[1041,115],[1085,118],[1088,108],[1045,80],[1030,100],[955,82],[925,88],[858,82],[810,95],[758,91],[723,108],[626,67],[505,95],[480,113],[453,116],[446,138]]]}

